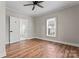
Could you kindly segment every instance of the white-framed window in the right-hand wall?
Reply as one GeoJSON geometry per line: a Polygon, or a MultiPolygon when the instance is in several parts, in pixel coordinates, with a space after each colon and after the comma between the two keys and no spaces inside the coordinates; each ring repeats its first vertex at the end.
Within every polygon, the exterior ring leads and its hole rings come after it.
{"type": "Polygon", "coordinates": [[[56,37],[56,17],[47,19],[47,36],[56,37]]]}

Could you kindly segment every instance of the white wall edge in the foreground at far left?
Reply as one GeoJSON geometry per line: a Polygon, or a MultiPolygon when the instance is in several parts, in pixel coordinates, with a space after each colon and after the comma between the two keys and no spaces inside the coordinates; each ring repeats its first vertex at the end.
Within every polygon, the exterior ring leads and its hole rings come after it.
{"type": "Polygon", "coordinates": [[[5,2],[0,2],[0,57],[6,55],[6,19],[5,19],[5,2]]]}

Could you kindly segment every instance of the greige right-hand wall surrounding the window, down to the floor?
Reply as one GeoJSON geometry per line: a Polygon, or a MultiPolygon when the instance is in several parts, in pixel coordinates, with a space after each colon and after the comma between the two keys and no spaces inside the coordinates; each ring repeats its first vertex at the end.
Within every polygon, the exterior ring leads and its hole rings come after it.
{"type": "Polygon", "coordinates": [[[79,46],[79,6],[35,17],[35,37],[79,46]],[[57,37],[46,36],[46,20],[57,17],[57,37]]]}

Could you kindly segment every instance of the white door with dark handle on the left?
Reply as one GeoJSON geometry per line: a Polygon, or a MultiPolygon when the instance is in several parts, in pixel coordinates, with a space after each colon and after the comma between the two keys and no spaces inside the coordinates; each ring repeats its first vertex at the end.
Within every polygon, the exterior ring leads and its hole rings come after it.
{"type": "Polygon", "coordinates": [[[10,16],[10,43],[20,41],[20,20],[10,16]]]}

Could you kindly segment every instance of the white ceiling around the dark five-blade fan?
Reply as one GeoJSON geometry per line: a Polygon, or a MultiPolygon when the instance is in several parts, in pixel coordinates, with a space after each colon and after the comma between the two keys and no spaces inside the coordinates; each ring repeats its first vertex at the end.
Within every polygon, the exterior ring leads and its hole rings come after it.
{"type": "Polygon", "coordinates": [[[74,5],[78,5],[78,1],[44,1],[40,3],[44,8],[35,7],[35,10],[32,11],[33,6],[23,6],[24,4],[32,3],[31,1],[7,1],[6,7],[14,10],[16,12],[20,12],[23,14],[27,14],[29,16],[38,16],[50,11],[54,12],[56,10],[60,10],[63,8],[68,8],[74,5]]]}

